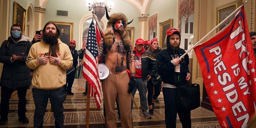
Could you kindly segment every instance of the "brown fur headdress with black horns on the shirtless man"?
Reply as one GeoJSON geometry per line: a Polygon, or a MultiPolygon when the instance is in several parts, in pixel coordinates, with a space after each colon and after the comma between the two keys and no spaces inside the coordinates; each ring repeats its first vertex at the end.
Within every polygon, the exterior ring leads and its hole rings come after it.
{"type": "Polygon", "coordinates": [[[104,32],[104,46],[106,48],[111,48],[113,42],[114,42],[114,35],[113,35],[113,24],[116,22],[116,20],[122,20],[124,22],[124,32],[121,33],[122,40],[124,42],[124,47],[126,50],[130,48],[130,36],[128,30],[126,30],[126,26],[130,24],[132,21],[127,22],[127,18],[122,13],[115,13],[108,16],[108,11],[106,9],[106,17],[108,19],[107,28],[104,32]]]}

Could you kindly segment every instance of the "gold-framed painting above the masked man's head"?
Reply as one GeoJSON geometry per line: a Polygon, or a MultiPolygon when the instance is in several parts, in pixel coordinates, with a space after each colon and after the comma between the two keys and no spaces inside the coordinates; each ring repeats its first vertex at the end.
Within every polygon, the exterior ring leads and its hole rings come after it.
{"type": "Polygon", "coordinates": [[[13,24],[18,24],[22,33],[25,32],[25,19],[26,19],[26,10],[20,6],[17,2],[14,1],[13,7],[13,24]]]}

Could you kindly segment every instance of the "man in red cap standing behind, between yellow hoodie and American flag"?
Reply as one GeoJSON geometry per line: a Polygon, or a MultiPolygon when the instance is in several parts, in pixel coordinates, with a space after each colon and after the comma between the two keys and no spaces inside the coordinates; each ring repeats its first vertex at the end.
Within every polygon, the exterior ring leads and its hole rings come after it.
{"type": "Polygon", "coordinates": [[[70,40],[70,45],[69,45],[69,48],[70,48],[70,52],[72,54],[72,57],[73,57],[73,66],[75,68],[75,70],[73,70],[72,72],[70,72],[69,74],[67,74],[67,79],[66,79],[66,84],[64,85],[64,88],[65,88],[65,92],[67,95],[74,95],[73,92],[71,92],[71,88],[72,88],[72,85],[73,85],[73,82],[74,82],[74,79],[75,79],[75,76],[76,76],[76,72],[77,72],[77,69],[79,69],[79,54],[78,54],[78,51],[76,50],[76,41],[75,40],[70,40]]]}

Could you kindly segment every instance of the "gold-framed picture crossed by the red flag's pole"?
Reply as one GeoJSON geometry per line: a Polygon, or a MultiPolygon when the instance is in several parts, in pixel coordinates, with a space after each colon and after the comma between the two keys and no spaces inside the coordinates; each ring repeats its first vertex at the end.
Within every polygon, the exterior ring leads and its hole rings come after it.
{"type": "MultiPolygon", "coordinates": [[[[232,4],[229,6],[226,5],[226,7],[223,7],[223,6],[218,7],[217,8],[217,24],[216,25],[220,24],[220,22],[222,22],[227,16],[229,16],[232,12],[234,12],[234,10],[236,10],[237,7],[238,7],[238,3],[232,4]]],[[[223,23],[221,26],[219,26],[217,29],[217,32],[219,32],[226,25],[228,25],[234,17],[235,17],[235,14],[233,16],[231,16],[228,20],[226,20],[225,23],[223,23]]]]}

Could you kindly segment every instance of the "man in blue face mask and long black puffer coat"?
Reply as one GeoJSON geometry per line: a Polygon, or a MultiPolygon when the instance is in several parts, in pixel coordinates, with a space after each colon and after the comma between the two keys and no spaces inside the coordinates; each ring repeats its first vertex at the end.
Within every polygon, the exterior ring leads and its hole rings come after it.
{"type": "Polygon", "coordinates": [[[4,40],[0,47],[0,62],[4,64],[0,80],[1,86],[1,119],[0,125],[8,120],[9,100],[12,92],[18,92],[18,116],[19,122],[28,123],[26,118],[26,93],[31,85],[30,69],[26,66],[28,51],[32,46],[28,36],[22,34],[19,25],[14,24],[10,30],[11,36],[4,40]]]}

